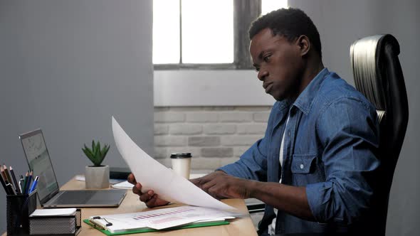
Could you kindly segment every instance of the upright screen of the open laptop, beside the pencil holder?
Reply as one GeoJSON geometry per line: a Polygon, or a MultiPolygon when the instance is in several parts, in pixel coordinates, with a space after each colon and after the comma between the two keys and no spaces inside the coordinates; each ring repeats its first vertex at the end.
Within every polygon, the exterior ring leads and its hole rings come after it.
{"type": "Polygon", "coordinates": [[[42,131],[37,129],[33,132],[22,134],[19,138],[21,139],[29,168],[33,171],[33,178],[39,176],[36,189],[40,202],[44,203],[51,198],[51,195],[59,191],[59,187],[42,131]]]}

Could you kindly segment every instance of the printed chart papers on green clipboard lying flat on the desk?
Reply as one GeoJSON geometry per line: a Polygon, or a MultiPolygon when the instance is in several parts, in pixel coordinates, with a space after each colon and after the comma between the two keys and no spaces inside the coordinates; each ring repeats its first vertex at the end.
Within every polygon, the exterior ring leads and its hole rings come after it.
{"type": "Polygon", "coordinates": [[[184,205],[177,208],[149,210],[140,213],[92,216],[89,221],[99,228],[116,233],[147,230],[148,228],[163,230],[197,223],[206,226],[209,222],[224,222],[226,219],[233,219],[235,215],[239,214],[184,205]]]}

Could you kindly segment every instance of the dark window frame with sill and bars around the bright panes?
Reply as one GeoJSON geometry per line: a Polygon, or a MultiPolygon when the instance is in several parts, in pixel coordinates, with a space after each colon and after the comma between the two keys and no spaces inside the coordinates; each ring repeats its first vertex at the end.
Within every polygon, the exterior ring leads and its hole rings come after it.
{"type": "MultiPolygon", "coordinates": [[[[181,3],[181,0],[179,2],[181,3]]],[[[153,64],[154,70],[253,70],[248,49],[250,43],[248,28],[260,14],[261,0],[233,0],[233,63],[182,63],[181,29],[179,33],[181,37],[179,41],[181,45],[180,62],[177,64],[153,64]]],[[[179,15],[181,24],[182,16],[179,15]]]]}

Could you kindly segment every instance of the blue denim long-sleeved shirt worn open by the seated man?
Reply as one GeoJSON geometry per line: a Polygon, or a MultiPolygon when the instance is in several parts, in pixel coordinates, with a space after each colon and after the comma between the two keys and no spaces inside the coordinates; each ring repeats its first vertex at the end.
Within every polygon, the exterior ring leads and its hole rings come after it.
{"type": "MultiPolygon", "coordinates": [[[[378,146],[379,123],[373,105],[325,68],[294,102],[275,102],[263,139],[238,161],[219,170],[240,178],[277,183],[281,175],[283,184],[306,187],[316,222],[279,210],[276,233],[359,232],[369,221],[379,166],[378,146]]],[[[273,207],[266,205],[260,232],[274,217],[273,207]]]]}

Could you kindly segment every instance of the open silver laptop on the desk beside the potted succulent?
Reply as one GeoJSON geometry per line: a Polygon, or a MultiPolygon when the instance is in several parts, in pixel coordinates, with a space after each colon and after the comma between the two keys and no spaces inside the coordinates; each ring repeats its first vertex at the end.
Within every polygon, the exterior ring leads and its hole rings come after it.
{"type": "Polygon", "coordinates": [[[125,198],[127,191],[121,189],[60,191],[41,129],[19,139],[33,177],[39,176],[36,190],[43,208],[117,207],[125,198]]]}

